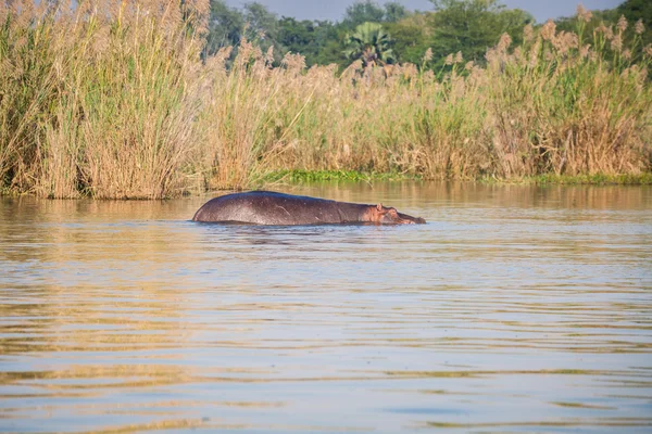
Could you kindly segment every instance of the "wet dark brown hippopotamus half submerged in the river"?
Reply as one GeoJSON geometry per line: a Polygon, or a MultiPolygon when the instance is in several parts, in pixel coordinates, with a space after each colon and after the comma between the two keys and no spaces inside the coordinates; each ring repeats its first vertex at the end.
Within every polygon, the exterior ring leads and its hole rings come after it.
{"type": "Polygon", "coordinates": [[[381,204],[363,205],[272,191],[234,193],[212,199],[199,208],[192,220],[278,226],[426,222],[423,218],[401,214],[381,204]]]}

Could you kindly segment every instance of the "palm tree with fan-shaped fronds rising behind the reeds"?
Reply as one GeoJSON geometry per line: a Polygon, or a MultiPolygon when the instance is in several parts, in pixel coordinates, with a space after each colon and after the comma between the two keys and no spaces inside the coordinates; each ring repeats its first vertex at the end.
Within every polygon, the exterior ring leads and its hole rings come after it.
{"type": "Polygon", "coordinates": [[[389,34],[378,23],[362,23],[347,35],[344,55],[352,61],[362,60],[364,66],[393,62],[392,42],[389,34]]]}

